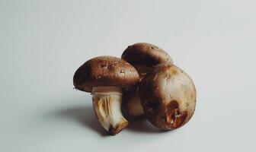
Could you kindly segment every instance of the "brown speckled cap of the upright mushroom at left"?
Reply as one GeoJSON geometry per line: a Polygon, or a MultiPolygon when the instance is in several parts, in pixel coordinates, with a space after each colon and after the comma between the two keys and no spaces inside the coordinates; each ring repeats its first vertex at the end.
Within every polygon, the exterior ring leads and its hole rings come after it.
{"type": "Polygon", "coordinates": [[[139,82],[139,74],[123,59],[99,56],[88,60],[74,74],[76,89],[91,92],[92,87],[117,86],[130,90],[139,82]]]}

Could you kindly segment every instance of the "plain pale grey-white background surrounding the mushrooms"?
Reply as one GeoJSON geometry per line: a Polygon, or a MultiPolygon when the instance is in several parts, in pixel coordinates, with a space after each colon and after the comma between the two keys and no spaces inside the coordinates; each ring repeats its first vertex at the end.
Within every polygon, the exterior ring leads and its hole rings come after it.
{"type": "Polygon", "coordinates": [[[0,0],[0,151],[255,151],[255,1],[0,0]],[[194,117],[175,131],[133,122],[104,135],[86,60],[153,43],[193,78],[194,117]]]}

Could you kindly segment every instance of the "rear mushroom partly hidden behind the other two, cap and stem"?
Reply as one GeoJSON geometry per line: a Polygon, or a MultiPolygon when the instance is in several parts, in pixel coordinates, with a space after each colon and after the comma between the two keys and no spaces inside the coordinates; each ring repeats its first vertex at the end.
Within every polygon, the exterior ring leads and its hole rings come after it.
{"type": "MultiPolygon", "coordinates": [[[[154,65],[161,63],[173,64],[171,56],[167,52],[149,43],[136,43],[133,46],[128,46],[121,58],[136,68],[139,72],[140,80],[152,70],[154,65]]],[[[143,115],[137,90],[124,93],[123,100],[129,116],[137,117],[143,115]]]]}

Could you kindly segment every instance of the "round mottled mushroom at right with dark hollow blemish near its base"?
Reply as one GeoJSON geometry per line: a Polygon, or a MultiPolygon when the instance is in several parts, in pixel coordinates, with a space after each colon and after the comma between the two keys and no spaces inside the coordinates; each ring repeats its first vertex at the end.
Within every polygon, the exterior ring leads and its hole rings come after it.
{"type": "Polygon", "coordinates": [[[156,65],[140,82],[139,97],[146,118],[162,130],[187,123],[196,106],[193,81],[175,65],[156,65]]]}

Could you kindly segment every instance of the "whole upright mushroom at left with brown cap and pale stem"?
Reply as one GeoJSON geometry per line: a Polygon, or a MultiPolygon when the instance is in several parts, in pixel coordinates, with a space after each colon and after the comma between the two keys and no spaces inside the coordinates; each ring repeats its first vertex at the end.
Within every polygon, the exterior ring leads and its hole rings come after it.
{"type": "Polygon", "coordinates": [[[130,90],[139,82],[139,74],[123,59],[99,56],[90,59],[75,71],[76,89],[92,95],[95,115],[110,135],[128,125],[121,112],[122,89],[130,90]]]}

